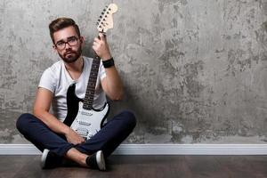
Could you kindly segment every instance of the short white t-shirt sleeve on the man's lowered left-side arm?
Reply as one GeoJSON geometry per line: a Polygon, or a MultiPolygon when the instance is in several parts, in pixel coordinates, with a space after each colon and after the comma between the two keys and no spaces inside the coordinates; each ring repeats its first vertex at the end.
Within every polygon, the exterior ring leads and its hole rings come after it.
{"type": "Polygon", "coordinates": [[[54,93],[56,87],[56,80],[55,77],[53,77],[53,75],[54,74],[51,69],[45,69],[40,79],[38,87],[45,88],[54,93]]]}

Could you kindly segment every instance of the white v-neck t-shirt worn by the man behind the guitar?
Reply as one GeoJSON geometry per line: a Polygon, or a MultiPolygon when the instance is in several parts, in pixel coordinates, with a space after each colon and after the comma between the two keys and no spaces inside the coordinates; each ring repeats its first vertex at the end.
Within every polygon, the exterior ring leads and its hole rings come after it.
{"type": "MultiPolygon", "coordinates": [[[[80,99],[85,98],[85,91],[90,76],[92,58],[83,56],[84,69],[81,76],[77,80],[73,80],[69,76],[69,72],[65,68],[63,61],[55,62],[50,68],[45,69],[40,79],[38,87],[50,90],[53,93],[53,114],[55,117],[64,121],[67,116],[67,91],[69,85],[76,84],[76,95],[80,99]]],[[[100,64],[97,82],[95,85],[95,93],[93,99],[93,108],[101,109],[104,103],[107,101],[106,95],[102,90],[100,79],[106,77],[105,69],[100,64]]]]}

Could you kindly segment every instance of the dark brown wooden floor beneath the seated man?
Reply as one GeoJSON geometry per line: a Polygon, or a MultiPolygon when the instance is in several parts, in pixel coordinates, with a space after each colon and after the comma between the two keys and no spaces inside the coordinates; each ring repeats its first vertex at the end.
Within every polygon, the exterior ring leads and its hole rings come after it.
{"type": "Polygon", "coordinates": [[[56,178],[266,178],[267,156],[111,156],[108,171],[40,168],[40,156],[0,156],[0,177],[56,178]]]}

